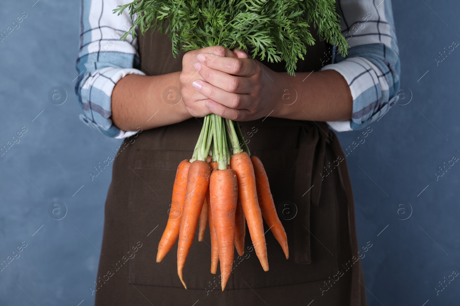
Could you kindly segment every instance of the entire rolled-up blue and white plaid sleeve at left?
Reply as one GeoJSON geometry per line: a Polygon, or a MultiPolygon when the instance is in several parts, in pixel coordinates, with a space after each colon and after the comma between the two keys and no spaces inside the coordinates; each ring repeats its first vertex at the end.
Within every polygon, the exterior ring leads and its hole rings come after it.
{"type": "Polygon", "coordinates": [[[97,127],[103,134],[124,138],[136,131],[122,131],[112,120],[112,91],[128,74],[144,73],[138,69],[138,43],[128,35],[120,37],[132,25],[128,11],[112,13],[124,0],[82,1],[80,50],[76,62],[79,76],[75,93],[83,109],[81,120],[97,127]]]}

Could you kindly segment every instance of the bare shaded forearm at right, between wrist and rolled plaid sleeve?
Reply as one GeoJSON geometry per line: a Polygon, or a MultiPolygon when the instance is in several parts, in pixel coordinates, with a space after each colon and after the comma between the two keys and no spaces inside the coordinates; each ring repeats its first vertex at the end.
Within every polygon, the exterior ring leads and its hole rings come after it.
{"type": "Polygon", "coordinates": [[[353,98],[339,72],[276,73],[277,93],[271,117],[294,120],[341,121],[351,119],[353,98]],[[294,102],[295,101],[295,102],[294,102]]]}

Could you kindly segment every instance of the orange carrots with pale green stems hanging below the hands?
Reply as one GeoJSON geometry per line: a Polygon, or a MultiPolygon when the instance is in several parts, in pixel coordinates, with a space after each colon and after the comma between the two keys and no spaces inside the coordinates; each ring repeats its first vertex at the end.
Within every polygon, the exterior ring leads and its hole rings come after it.
{"type": "Polygon", "coordinates": [[[182,273],[185,260],[198,224],[198,241],[202,241],[209,222],[211,273],[217,272],[220,261],[224,291],[235,247],[238,255],[243,255],[246,222],[260,264],[268,271],[262,217],[288,259],[288,238],[276,213],[262,162],[250,156],[237,122],[214,114],[206,116],[192,158],[177,168],[169,219],[156,262],[161,262],[178,240],[177,272],[187,289],[182,273]]]}

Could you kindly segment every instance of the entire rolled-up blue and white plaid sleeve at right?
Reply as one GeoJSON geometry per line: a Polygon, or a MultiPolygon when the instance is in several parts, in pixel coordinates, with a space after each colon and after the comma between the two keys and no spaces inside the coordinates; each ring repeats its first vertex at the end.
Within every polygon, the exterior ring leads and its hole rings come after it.
{"type": "Polygon", "coordinates": [[[351,120],[328,122],[341,132],[366,127],[394,105],[400,62],[390,0],[339,0],[337,9],[350,49],[322,70],[339,72],[350,86],[351,120]]]}

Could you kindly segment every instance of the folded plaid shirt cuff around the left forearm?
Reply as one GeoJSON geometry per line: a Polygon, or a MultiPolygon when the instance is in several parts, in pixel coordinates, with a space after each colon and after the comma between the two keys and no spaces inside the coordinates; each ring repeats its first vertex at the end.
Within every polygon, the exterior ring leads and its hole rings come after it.
{"type": "Polygon", "coordinates": [[[144,72],[134,68],[107,67],[88,73],[81,86],[81,106],[84,115],[80,118],[112,138],[125,138],[137,131],[122,131],[117,128],[111,119],[112,116],[112,91],[115,84],[128,74],[145,75],[144,72]]]}

